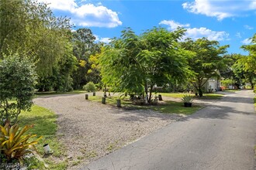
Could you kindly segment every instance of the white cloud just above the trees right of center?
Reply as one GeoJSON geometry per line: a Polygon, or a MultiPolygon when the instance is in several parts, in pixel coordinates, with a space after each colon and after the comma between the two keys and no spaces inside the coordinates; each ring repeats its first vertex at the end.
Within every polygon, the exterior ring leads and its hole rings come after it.
{"type": "Polygon", "coordinates": [[[206,29],[204,27],[201,28],[189,28],[189,24],[181,24],[179,22],[175,22],[173,20],[163,20],[159,24],[163,24],[168,26],[168,29],[174,30],[177,29],[178,26],[187,27],[185,28],[187,32],[185,33],[184,38],[192,38],[192,39],[200,39],[202,37],[206,37],[209,40],[223,41],[228,40],[229,34],[227,32],[216,32],[211,29],[206,29]]]}

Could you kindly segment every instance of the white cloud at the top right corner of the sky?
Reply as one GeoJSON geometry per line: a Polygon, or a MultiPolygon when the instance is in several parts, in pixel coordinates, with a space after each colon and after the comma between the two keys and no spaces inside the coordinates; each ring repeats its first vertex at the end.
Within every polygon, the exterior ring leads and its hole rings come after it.
{"type": "Polygon", "coordinates": [[[216,17],[218,20],[222,20],[255,9],[256,1],[195,0],[194,2],[185,2],[182,4],[182,6],[189,12],[212,16],[216,17]]]}

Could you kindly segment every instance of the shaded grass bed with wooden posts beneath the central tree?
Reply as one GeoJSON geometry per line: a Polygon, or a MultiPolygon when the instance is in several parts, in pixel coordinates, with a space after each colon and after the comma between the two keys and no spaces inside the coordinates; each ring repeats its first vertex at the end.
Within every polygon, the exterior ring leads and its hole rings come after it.
{"type": "MultiPolygon", "coordinates": [[[[106,104],[116,106],[116,100],[118,97],[106,97],[106,104]]],[[[89,96],[88,100],[95,102],[102,102],[102,97],[100,96],[89,96]]],[[[166,101],[164,104],[158,105],[137,105],[133,104],[129,97],[122,98],[122,107],[128,109],[151,109],[155,111],[160,111],[165,114],[193,114],[196,110],[202,108],[199,105],[193,105],[192,107],[184,107],[183,102],[175,102],[175,101],[166,101]]]]}

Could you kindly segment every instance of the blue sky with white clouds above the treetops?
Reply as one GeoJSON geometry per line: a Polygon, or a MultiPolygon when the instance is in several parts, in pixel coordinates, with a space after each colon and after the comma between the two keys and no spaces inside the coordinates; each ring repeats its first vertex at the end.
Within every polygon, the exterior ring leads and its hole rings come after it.
{"type": "Polygon", "coordinates": [[[228,53],[247,54],[240,46],[256,33],[256,0],[39,0],[54,15],[67,16],[74,30],[91,29],[96,41],[109,42],[126,27],[140,35],[154,26],[187,29],[185,37],[206,37],[230,45],[228,53]]]}

